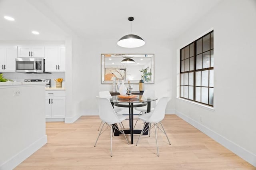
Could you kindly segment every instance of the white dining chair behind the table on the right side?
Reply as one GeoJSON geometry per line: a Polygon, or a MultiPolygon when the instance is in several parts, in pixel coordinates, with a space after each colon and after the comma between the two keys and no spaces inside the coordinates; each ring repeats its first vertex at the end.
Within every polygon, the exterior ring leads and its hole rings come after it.
{"type": "MultiPolygon", "coordinates": [[[[156,99],[156,92],[154,90],[145,90],[143,92],[143,95],[142,95],[142,98],[144,99],[148,99],[148,98],[151,98],[151,99],[156,99]]],[[[150,102],[150,111],[153,111],[156,107],[156,101],[152,101],[150,102]]],[[[143,115],[147,112],[147,109],[148,109],[148,106],[142,106],[142,107],[135,107],[135,110],[136,111],[140,111],[139,115],[138,115],[138,118],[140,117],[140,115],[143,115]]],[[[138,122],[138,119],[136,120],[136,123],[134,124],[134,128],[138,122]]]]}

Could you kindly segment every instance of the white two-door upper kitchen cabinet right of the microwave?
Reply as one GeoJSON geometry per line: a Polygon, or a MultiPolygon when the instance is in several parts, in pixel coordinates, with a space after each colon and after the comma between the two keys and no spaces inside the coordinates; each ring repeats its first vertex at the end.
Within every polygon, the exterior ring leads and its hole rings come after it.
{"type": "Polygon", "coordinates": [[[46,71],[65,71],[65,47],[48,46],[45,47],[45,70],[46,71]]]}

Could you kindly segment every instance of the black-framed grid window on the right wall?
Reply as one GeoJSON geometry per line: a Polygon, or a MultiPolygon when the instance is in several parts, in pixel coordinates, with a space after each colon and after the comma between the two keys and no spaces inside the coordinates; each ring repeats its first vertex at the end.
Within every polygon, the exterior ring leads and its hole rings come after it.
{"type": "Polygon", "coordinates": [[[213,31],[180,49],[180,97],[213,106],[213,31]]]}

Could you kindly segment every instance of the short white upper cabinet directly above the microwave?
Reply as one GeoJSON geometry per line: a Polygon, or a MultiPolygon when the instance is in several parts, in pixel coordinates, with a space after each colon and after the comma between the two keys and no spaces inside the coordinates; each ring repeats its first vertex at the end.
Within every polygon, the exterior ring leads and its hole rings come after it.
{"type": "Polygon", "coordinates": [[[19,46],[19,58],[44,58],[44,46],[19,46]]]}

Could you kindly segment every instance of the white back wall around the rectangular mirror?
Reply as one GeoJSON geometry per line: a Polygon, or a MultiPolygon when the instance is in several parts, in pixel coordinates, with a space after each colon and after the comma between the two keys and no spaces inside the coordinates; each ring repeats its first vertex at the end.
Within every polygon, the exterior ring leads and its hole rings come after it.
{"type": "MultiPolygon", "coordinates": [[[[155,83],[146,84],[145,89],[156,90],[157,97],[172,96],[173,57],[170,57],[173,54],[172,42],[145,40],[146,45],[143,47],[127,49],[116,44],[118,38],[113,40],[77,38],[76,40],[77,42],[72,42],[73,113],[70,115],[98,115],[95,96],[99,91],[112,91],[112,85],[101,84],[101,53],[154,53],[155,83]]],[[[138,91],[138,85],[133,87],[134,91],[138,91]]],[[[166,112],[173,113],[173,111],[174,100],[171,99],[166,112]]]]}

